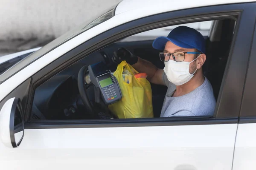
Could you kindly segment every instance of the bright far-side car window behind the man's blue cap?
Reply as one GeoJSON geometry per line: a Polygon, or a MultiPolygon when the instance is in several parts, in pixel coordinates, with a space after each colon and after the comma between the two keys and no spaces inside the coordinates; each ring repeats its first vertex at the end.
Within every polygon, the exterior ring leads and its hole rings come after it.
{"type": "Polygon", "coordinates": [[[204,37],[207,37],[211,28],[213,21],[203,21],[198,23],[187,23],[175,26],[168,26],[163,28],[157,28],[149,31],[145,31],[139,34],[134,34],[130,37],[120,40],[119,42],[131,42],[131,41],[144,41],[144,40],[154,40],[160,36],[167,36],[170,31],[178,26],[188,26],[199,31],[204,37]]]}

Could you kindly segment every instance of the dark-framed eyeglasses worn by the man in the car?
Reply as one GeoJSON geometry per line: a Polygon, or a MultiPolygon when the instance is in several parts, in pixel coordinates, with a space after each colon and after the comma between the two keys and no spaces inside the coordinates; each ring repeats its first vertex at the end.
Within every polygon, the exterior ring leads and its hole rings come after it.
{"type": "Polygon", "coordinates": [[[175,52],[175,53],[166,53],[166,52],[160,52],[159,57],[160,60],[163,62],[168,62],[171,55],[174,61],[182,62],[185,59],[185,54],[202,54],[199,52],[175,52]]]}

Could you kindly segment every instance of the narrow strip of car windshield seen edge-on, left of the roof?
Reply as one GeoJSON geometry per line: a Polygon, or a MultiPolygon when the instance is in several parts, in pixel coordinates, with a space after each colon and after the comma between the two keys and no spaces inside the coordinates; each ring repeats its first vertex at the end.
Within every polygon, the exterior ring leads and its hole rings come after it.
{"type": "Polygon", "coordinates": [[[36,59],[40,58],[44,54],[46,54],[48,51],[51,51],[52,49],[56,48],[58,45],[63,44],[64,42],[67,42],[68,40],[72,39],[73,37],[76,37],[77,35],[83,33],[84,31],[99,25],[100,23],[105,22],[106,20],[109,20],[111,17],[114,16],[114,8],[106,10],[104,13],[99,15],[97,19],[95,20],[87,20],[84,24],[81,26],[68,31],[66,34],[62,35],[61,37],[58,37],[57,39],[53,40],[52,42],[49,42],[49,44],[42,47],[40,50],[34,52],[33,54],[29,55],[28,57],[22,59],[20,62],[17,62],[15,65],[13,65],[11,68],[6,70],[3,74],[0,75],[0,84],[11,77],[13,74],[15,74],[20,69],[26,67],[29,65],[29,63],[35,61],[36,59]],[[107,12],[106,12],[107,11],[107,12]]]}

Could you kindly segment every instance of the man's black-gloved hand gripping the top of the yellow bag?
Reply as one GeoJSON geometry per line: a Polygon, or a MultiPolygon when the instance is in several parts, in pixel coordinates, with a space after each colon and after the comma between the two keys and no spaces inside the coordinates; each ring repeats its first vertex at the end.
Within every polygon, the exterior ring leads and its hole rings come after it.
{"type": "Polygon", "coordinates": [[[123,60],[128,62],[130,65],[133,65],[138,61],[138,57],[125,48],[118,48],[118,50],[114,52],[112,61],[119,64],[123,60]]]}

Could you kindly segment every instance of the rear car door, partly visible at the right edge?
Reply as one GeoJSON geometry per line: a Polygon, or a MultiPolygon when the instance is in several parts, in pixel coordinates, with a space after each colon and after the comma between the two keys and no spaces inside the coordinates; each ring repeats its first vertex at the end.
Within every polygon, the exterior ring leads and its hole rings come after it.
{"type": "Polygon", "coordinates": [[[256,168],[256,34],[250,51],[250,62],[244,85],[240,120],[236,134],[233,170],[255,170],[256,168]]]}

